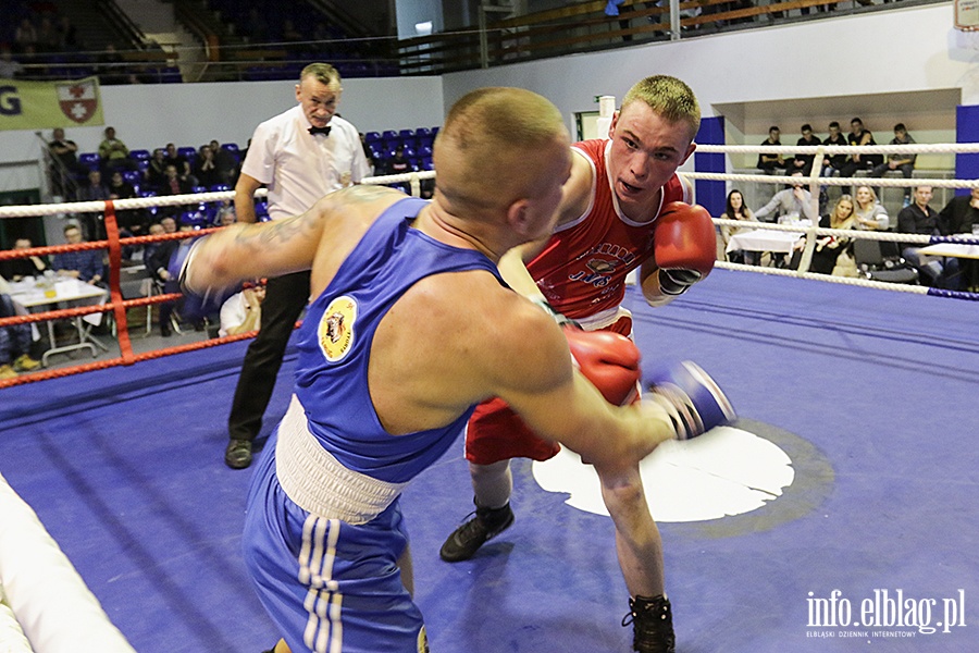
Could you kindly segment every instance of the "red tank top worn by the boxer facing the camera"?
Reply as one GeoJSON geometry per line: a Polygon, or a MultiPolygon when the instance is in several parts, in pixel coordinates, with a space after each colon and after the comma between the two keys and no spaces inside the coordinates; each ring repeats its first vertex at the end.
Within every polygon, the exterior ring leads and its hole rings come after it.
{"type": "Polygon", "coordinates": [[[609,140],[584,140],[573,148],[594,169],[592,206],[580,219],[558,227],[544,250],[528,264],[547,301],[572,319],[617,307],[625,296],[625,275],[653,251],[653,226],[659,210],[671,201],[690,202],[674,173],[662,187],[659,209],[637,224],[619,212],[605,157],[609,140]]]}

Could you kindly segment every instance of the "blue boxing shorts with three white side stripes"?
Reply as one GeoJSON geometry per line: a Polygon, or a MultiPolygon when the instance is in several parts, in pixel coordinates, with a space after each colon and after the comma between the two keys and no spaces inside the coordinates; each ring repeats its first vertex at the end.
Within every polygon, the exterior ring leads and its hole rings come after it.
{"type": "Polygon", "coordinates": [[[427,652],[421,612],[397,565],[408,544],[398,500],[365,523],[311,514],[280,484],[280,435],[255,470],[243,544],[283,639],[294,653],[427,652]]]}

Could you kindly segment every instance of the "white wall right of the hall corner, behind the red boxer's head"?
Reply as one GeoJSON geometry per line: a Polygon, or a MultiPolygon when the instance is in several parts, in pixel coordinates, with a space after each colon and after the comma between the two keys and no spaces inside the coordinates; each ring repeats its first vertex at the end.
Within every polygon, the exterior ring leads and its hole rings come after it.
{"type": "MultiPolygon", "coordinates": [[[[932,4],[852,17],[814,19],[792,25],[719,34],[691,40],[658,42],[590,54],[574,54],[485,71],[444,76],[446,107],[480,86],[522,86],[574,113],[597,109],[595,96],[625,94],[637,79],[653,74],[680,77],[693,88],[705,116],[715,107],[791,98],[835,97],[835,120],[845,123],[862,98],[933,89],[962,89],[962,103],[979,103],[979,35],[953,27],[952,4],[932,4]],[[847,44],[854,44],[853,47],[847,44]],[[858,51],[857,44],[862,44],[858,51]]],[[[887,108],[880,108],[887,111],[887,108]]],[[[954,113],[954,107],[951,108],[954,113]]],[[[814,116],[817,130],[821,121],[814,116]]],[[[778,124],[779,116],[772,116],[778,124]]],[[[867,118],[864,116],[865,123],[867,118]]],[[[872,125],[892,137],[899,120],[872,125]]],[[[782,125],[795,143],[798,125],[782,125]]],[[[925,128],[924,126],[921,128],[925,128]]],[[[746,143],[761,137],[744,134],[746,143]]],[[[912,133],[914,133],[914,128],[912,133]]],[[[783,143],[788,138],[783,138],[783,143]]],[[[880,138],[878,138],[880,140],[880,138]]],[[[921,140],[919,138],[919,140],[921,140]]]]}

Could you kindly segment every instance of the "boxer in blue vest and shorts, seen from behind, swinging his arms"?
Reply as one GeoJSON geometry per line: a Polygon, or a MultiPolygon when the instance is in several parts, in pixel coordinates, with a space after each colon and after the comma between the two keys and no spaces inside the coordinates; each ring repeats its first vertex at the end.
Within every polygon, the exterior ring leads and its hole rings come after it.
{"type": "MultiPolygon", "coordinates": [[[[295,394],[249,492],[245,556],[276,651],[426,651],[398,496],[505,399],[614,482],[659,443],[708,428],[710,383],[615,406],[574,371],[560,328],[507,288],[511,247],[549,233],[571,159],[558,110],[521,89],[460,99],[435,143],[431,202],[368,186],[309,212],[198,241],[188,292],[312,269],[295,394]],[[704,426],[702,424],[702,426],[704,426]]],[[[600,358],[600,357],[599,357],[600,358]]],[[[631,370],[630,373],[635,373],[631,370]]]]}

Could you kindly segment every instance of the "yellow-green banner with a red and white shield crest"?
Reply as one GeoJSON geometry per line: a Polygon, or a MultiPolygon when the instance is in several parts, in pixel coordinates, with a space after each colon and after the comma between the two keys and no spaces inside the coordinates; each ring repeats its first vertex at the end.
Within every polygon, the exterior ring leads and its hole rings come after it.
{"type": "Polygon", "coordinates": [[[103,125],[99,78],[0,79],[0,131],[103,125]]]}

